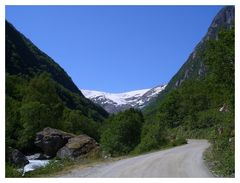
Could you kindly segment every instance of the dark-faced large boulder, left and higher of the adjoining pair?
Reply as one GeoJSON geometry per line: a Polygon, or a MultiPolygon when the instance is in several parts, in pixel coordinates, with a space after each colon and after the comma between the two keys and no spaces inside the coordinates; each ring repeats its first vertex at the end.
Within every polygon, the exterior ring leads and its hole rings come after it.
{"type": "Polygon", "coordinates": [[[68,142],[68,139],[74,136],[71,133],[47,127],[36,134],[34,143],[42,149],[44,154],[53,157],[68,142]]]}

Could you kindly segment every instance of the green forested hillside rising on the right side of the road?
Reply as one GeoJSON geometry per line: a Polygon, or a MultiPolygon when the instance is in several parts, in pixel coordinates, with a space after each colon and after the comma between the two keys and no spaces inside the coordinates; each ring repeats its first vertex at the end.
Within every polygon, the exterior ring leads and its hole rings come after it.
{"type": "MultiPolygon", "coordinates": [[[[234,7],[225,7],[217,17],[222,18],[229,11],[234,12],[234,7]]],[[[211,37],[204,38],[201,48],[197,48],[194,52],[197,60],[194,60],[196,63],[193,65],[202,66],[192,69],[189,67],[192,60],[188,60],[170,81],[170,83],[176,81],[177,85],[168,88],[164,95],[160,94],[158,101],[150,104],[145,111],[146,124],[152,128],[148,136],[153,136],[154,130],[161,127],[165,129],[165,137],[170,139],[172,137],[208,138],[212,147],[206,158],[212,162],[210,168],[223,176],[233,176],[235,171],[233,17],[231,22],[226,22],[229,26],[218,27],[211,37]],[[192,74],[186,76],[185,72],[184,79],[176,78],[189,69],[192,69],[192,74]],[[204,72],[199,74],[201,73],[199,71],[204,72]]],[[[227,21],[226,17],[222,20],[227,21]]],[[[219,22],[218,24],[223,25],[219,22]]],[[[192,59],[192,55],[190,57],[192,59]]],[[[158,138],[156,141],[162,139],[158,138]]],[[[144,146],[148,143],[142,139],[141,144],[144,146]]]]}

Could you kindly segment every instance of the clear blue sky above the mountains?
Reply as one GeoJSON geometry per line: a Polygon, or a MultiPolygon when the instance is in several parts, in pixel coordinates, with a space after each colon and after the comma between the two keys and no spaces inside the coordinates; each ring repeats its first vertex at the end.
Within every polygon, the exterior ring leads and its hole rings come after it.
{"type": "Polygon", "coordinates": [[[222,6],[6,6],[6,19],[81,89],[169,82],[222,6]]]}

